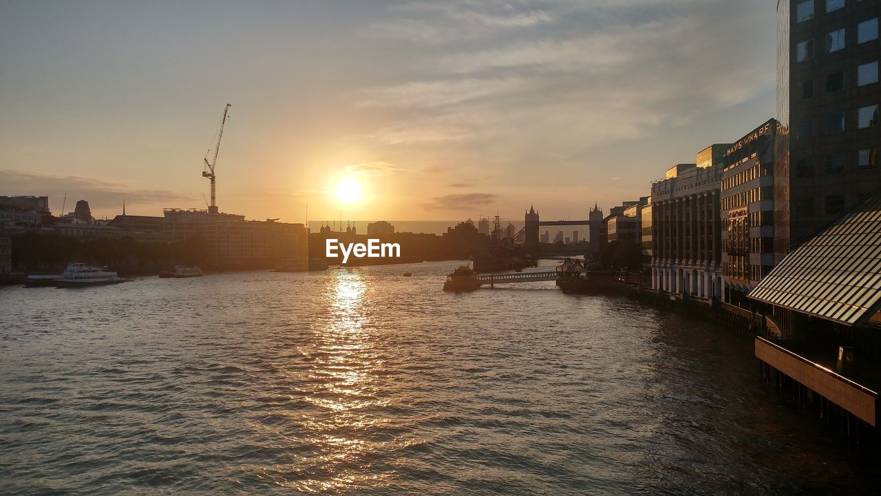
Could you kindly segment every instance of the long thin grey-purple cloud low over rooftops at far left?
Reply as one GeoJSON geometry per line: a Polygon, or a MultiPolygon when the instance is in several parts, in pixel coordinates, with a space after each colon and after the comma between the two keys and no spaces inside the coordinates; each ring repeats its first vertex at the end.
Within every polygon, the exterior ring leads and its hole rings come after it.
{"type": "Polygon", "coordinates": [[[95,177],[56,176],[24,170],[0,169],[0,184],[4,194],[48,195],[51,198],[68,195],[71,207],[79,199],[89,202],[89,207],[122,207],[135,204],[174,204],[191,201],[192,198],[164,190],[144,190],[128,184],[114,183],[95,177]]]}

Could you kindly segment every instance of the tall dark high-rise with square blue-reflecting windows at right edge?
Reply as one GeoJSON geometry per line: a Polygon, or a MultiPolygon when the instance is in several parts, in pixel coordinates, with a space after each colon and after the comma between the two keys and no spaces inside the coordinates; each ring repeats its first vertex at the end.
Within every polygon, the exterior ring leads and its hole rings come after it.
{"type": "Polygon", "coordinates": [[[777,260],[881,186],[879,4],[777,3],[777,260]]]}

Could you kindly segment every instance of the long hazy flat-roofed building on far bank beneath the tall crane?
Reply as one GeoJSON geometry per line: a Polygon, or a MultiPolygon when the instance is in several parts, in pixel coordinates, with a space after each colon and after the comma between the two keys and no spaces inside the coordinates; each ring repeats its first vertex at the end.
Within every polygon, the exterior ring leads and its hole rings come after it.
{"type": "MultiPolygon", "coordinates": [[[[165,209],[165,230],[175,241],[204,239],[211,263],[220,267],[272,267],[278,259],[308,255],[308,232],[300,223],[246,221],[244,215],[165,209]]],[[[354,229],[350,229],[354,235],[354,229]]]]}

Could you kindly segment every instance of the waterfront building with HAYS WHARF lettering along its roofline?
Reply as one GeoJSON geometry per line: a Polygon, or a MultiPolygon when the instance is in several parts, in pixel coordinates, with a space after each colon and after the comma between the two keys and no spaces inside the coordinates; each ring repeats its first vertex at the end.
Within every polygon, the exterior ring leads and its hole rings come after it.
{"type": "Polygon", "coordinates": [[[774,147],[777,121],[768,120],[725,152],[722,172],[722,301],[746,304],[746,294],[774,267],[774,147]]]}

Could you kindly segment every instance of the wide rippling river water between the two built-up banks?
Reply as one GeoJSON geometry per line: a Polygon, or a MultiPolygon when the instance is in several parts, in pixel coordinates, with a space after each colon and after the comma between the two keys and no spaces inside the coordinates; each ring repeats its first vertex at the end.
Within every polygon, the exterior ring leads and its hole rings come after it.
{"type": "Polygon", "coordinates": [[[0,289],[0,493],[877,487],[743,337],[455,266],[0,289]]]}

